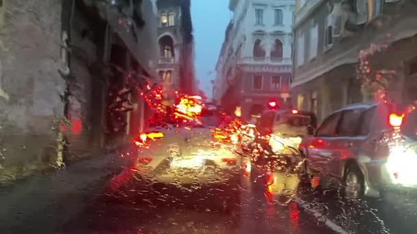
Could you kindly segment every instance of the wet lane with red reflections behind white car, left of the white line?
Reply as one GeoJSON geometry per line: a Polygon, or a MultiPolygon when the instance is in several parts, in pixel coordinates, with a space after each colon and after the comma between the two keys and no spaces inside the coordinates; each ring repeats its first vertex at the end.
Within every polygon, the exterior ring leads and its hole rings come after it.
{"type": "Polygon", "coordinates": [[[241,180],[200,185],[188,194],[135,179],[115,189],[110,181],[60,233],[333,233],[295,202],[278,205],[262,186],[246,187],[241,180]],[[231,203],[223,209],[225,199],[231,203]]]}

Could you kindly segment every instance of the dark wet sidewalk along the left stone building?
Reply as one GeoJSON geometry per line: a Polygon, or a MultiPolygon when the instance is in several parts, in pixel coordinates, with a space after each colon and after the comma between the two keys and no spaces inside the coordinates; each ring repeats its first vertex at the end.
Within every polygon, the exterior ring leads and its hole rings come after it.
{"type": "Polygon", "coordinates": [[[132,157],[121,157],[126,151],[83,159],[0,189],[0,233],[31,233],[32,226],[53,233],[88,203],[86,198],[130,164],[132,157]]]}

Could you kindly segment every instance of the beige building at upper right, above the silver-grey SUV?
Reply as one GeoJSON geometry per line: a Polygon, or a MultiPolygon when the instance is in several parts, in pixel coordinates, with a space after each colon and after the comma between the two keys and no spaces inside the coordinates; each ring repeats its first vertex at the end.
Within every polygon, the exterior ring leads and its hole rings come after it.
{"type": "Polygon", "coordinates": [[[344,105],[374,100],[380,79],[394,81],[387,90],[392,98],[417,99],[410,91],[416,87],[414,12],[411,0],[297,0],[294,105],[322,120],[344,105]]]}

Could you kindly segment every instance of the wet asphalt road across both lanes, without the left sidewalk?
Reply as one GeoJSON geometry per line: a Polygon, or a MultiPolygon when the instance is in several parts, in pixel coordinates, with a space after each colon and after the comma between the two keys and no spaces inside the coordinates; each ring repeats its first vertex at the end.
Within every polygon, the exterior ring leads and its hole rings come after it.
{"type": "Polygon", "coordinates": [[[416,192],[348,201],[337,192],[302,186],[294,175],[277,174],[281,187],[296,184],[296,196],[288,200],[279,196],[280,186],[271,195],[250,176],[178,187],[151,185],[134,174],[126,168],[103,181],[57,233],[417,233],[416,192]]]}

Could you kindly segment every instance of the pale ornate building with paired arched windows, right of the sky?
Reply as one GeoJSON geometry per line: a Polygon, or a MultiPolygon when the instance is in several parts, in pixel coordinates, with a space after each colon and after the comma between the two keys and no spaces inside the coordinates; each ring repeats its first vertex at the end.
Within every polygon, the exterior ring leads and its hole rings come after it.
{"type": "Polygon", "coordinates": [[[241,107],[244,120],[270,101],[289,107],[291,27],[294,1],[231,0],[233,19],[216,65],[213,97],[229,112],[241,107]]]}

